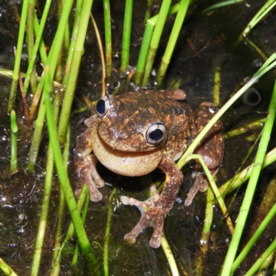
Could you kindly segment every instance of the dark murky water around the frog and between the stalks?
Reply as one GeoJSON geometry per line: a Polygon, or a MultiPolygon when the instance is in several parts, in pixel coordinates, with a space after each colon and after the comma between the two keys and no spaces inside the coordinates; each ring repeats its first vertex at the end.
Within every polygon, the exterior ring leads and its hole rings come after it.
{"type": "MultiPolygon", "coordinates": [[[[144,30],[144,10],[146,1],[135,1],[133,14],[132,48],[130,65],[134,66],[139,54],[141,37],[144,30]]],[[[221,102],[228,98],[231,91],[235,90],[242,82],[242,79],[252,75],[257,71],[262,58],[258,55],[249,43],[241,42],[238,46],[233,46],[240,32],[245,28],[246,23],[262,7],[265,1],[246,1],[235,6],[229,6],[215,10],[208,14],[203,14],[201,10],[210,6],[213,1],[198,1],[190,6],[184,26],[177,43],[177,48],[168,68],[168,74],[162,88],[168,88],[173,81],[179,81],[180,88],[186,91],[187,102],[196,109],[202,101],[213,101],[213,76],[215,68],[221,67],[221,102]]],[[[119,69],[121,52],[121,33],[123,30],[124,6],[121,1],[112,1],[112,45],[113,45],[113,66],[119,69]]],[[[39,6],[42,9],[43,6],[39,6]]],[[[158,3],[155,3],[153,12],[157,12],[158,3]]],[[[50,46],[51,39],[56,30],[56,7],[52,6],[47,25],[47,32],[44,34],[46,44],[50,46]]],[[[12,70],[13,68],[13,47],[17,43],[18,21],[17,12],[20,13],[21,5],[16,1],[8,1],[0,4],[0,66],[12,70]]],[[[103,37],[103,11],[101,1],[93,3],[93,14],[97,20],[99,30],[103,37]]],[[[275,14],[269,14],[262,23],[254,28],[248,36],[268,57],[275,48],[275,14]]],[[[166,23],[164,36],[161,38],[161,47],[157,53],[155,69],[158,69],[164,47],[168,39],[168,34],[175,17],[170,17],[166,23]]],[[[21,70],[26,70],[26,54],[23,52],[21,70]]],[[[37,62],[39,64],[39,61],[37,62]]],[[[39,66],[39,65],[38,65],[39,66]]],[[[40,69],[41,70],[41,69],[40,69]]],[[[266,75],[255,89],[259,93],[260,100],[255,104],[239,100],[223,118],[224,128],[227,132],[235,126],[245,124],[252,119],[259,119],[266,116],[266,110],[270,101],[273,89],[274,75],[266,75]]],[[[76,99],[73,103],[73,111],[84,106],[83,97],[94,100],[99,98],[101,89],[101,69],[100,58],[97,46],[95,46],[95,34],[90,27],[86,39],[85,52],[81,63],[81,73],[79,75],[76,91],[76,99]]],[[[112,85],[121,83],[120,90],[124,90],[124,79],[120,79],[114,72],[112,85]]],[[[111,85],[111,86],[112,86],[111,85]]],[[[155,77],[151,77],[151,86],[155,88],[155,77]]],[[[109,88],[112,90],[112,88],[109,88]]],[[[131,89],[131,88],[130,88],[131,89]]],[[[31,126],[26,126],[26,121],[21,119],[21,101],[17,101],[17,119],[19,124],[19,166],[21,168],[17,175],[9,177],[7,167],[10,157],[10,125],[6,113],[10,90],[10,79],[0,78],[0,257],[4,259],[19,275],[29,275],[32,264],[32,254],[37,235],[39,221],[39,209],[43,193],[43,181],[45,175],[46,149],[48,144],[47,133],[44,132],[39,151],[39,159],[36,166],[36,173],[32,175],[26,170],[28,160],[28,149],[32,139],[31,126]]],[[[70,152],[75,146],[75,138],[85,130],[81,120],[89,117],[91,112],[77,113],[71,117],[72,144],[70,152]]],[[[251,135],[257,136],[259,130],[251,131],[236,138],[226,140],[224,162],[218,174],[218,183],[230,179],[239,168],[246,152],[253,141],[246,138],[251,135]]],[[[250,164],[250,160],[246,162],[250,164]]],[[[77,181],[72,164],[72,155],[69,162],[70,181],[74,185],[77,181]]],[[[137,199],[146,199],[143,188],[147,186],[148,179],[117,177],[117,175],[107,172],[105,168],[99,166],[99,171],[104,175],[105,180],[117,186],[118,193],[113,200],[112,226],[110,233],[109,265],[110,275],[170,275],[168,264],[161,248],[152,250],[148,245],[148,240],[152,230],[147,228],[139,235],[135,245],[130,246],[124,242],[124,235],[135,226],[139,220],[139,211],[135,207],[122,206],[119,203],[120,195],[131,195],[137,199]],[[141,182],[143,184],[141,184],[141,182]],[[116,200],[117,199],[117,200],[116,200]]],[[[271,171],[268,168],[262,176],[264,183],[257,187],[255,206],[250,213],[248,224],[244,233],[244,241],[250,233],[250,225],[253,224],[257,207],[264,195],[266,186],[270,181],[271,171]]],[[[201,229],[204,222],[204,212],[206,206],[206,195],[197,195],[192,206],[186,207],[183,202],[190,186],[192,185],[191,172],[185,171],[186,179],[179,193],[176,203],[165,221],[165,233],[179,266],[180,275],[182,268],[186,268],[188,275],[193,275],[195,253],[200,246],[201,229]]],[[[160,178],[159,172],[152,177],[160,178]]],[[[47,226],[46,241],[43,246],[43,257],[39,275],[48,275],[50,268],[50,255],[55,242],[55,221],[57,219],[58,190],[59,181],[57,177],[53,181],[53,190],[50,199],[50,217],[47,226]]],[[[239,206],[244,196],[244,187],[239,190],[235,204],[230,210],[232,221],[235,221],[239,206]]],[[[106,228],[107,201],[111,186],[101,189],[103,198],[100,203],[90,203],[88,217],[86,219],[86,229],[90,241],[95,241],[103,246],[103,237],[106,228]]],[[[226,199],[230,202],[230,197],[226,199]]],[[[64,232],[68,225],[69,218],[64,221],[64,232]]],[[[262,253],[273,238],[273,231],[266,233],[266,239],[262,240],[262,246],[254,248],[255,254],[246,259],[245,265],[237,272],[242,275],[248,266],[255,262],[257,256],[262,253]]],[[[224,222],[221,222],[219,207],[214,205],[214,219],[211,229],[210,244],[205,259],[204,275],[219,275],[219,270],[224,262],[224,257],[228,250],[230,233],[224,222]]],[[[70,246],[73,245],[70,244],[70,246]]],[[[68,246],[67,253],[70,257],[72,249],[68,246]]],[[[102,248],[97,244],[92,244],[95,249],[99,263],[102,263],[102,248]]],[[[61,260],[61,275],[67,275],[70,258],[64,255],[61,260]]],[[[82,275],[82,260],[79,266],[70,274],[82,275]]],[[[0,273],[1,274],[1,273],[0,273]]],[[[83,274],[85,275],[85,274],[83,274]]]]}

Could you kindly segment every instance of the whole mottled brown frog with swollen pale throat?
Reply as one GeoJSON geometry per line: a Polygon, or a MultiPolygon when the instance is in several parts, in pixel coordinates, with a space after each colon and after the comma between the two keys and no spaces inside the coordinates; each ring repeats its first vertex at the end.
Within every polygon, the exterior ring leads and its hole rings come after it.
{"type": "MultiPolygon", "coordinates": [[[[88,129],[77,137],[74,162],[79,184],[75,194],[79,195],[86,183],[91,201],[102,199],[98,188],[105,184],[96,170],[98,160],[119,175],[146,175],[155,168],[165,172],[166,183],[160,197],[152,197],[144,202],[121,197],[123,204],[147,208],[137,226],[125,235],[125,239],[132,243],[144,228],[152,226],[150,246],[160,246],[164,219],[175,202],[184,178],[175,161],[215,114],[213,104],[204,102],[199,106],[195,118],[188,104],[177,101],[185,97],[182,90],[107,95],[97,102],[97,114],[86,119],[88,129]]],[[[222,125],[218,121],[195,153],[202,155],[212,175],[215,175],[223,151],[222,125]]],[[[198,190],[207,188],[205,175],[197,170],[197,179],[185,205],[190,205],[198,190]]]]}

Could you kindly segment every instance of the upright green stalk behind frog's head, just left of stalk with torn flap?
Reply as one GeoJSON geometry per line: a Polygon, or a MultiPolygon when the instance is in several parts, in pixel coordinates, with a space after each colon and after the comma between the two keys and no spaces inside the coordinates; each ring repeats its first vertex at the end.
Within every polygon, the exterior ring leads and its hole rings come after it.
{"type": "Polygon", "coordinates": [[[132,0],[126,0],[123,43],[122,43],[123,45],[121,50],[121,67],[120,67],[120,70],[122,73],[126,72],[126,68],[129,65],[131,23],[132,23],[132,0]]]}

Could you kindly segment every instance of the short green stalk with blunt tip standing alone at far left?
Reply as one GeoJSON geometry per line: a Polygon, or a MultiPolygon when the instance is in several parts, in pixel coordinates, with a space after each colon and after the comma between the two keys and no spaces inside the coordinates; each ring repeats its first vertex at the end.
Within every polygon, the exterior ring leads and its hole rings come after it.
{"type": "Polygon", "coordinates": [[[17,115],[15,111],[10,112],[10,173],[17,171],[17,115]]]}

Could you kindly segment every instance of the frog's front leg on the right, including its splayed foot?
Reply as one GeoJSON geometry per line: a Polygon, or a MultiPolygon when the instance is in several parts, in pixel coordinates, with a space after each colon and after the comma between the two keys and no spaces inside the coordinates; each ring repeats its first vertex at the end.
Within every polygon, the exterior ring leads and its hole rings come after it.
{"type": "Polygon", "coordinates": [[[144,202],[131,199],[126,201],[126,197],[121,197],[123,204],[135,205],[137,207],[146,207],[148,210],[141,215],[138,224],[133,228],[130,233],[125,235],[125,239],[134,243],[136,237],[141,233],[144,228],[148,226],[153,227],[153,233],[150,238],[150,246],[158,248],[160,246],[161,233],[163,230],[164,219],[167,213],[172,208],[179,192],[179,188],[183,181],[183,174],[175,165],[172,159],[168,158],[166,154],[163,155],[158,168],[161,168],[166,173],[166,182],[161,196],[157,199],[150,199],[144,202]]]}

